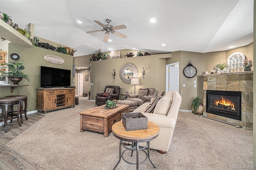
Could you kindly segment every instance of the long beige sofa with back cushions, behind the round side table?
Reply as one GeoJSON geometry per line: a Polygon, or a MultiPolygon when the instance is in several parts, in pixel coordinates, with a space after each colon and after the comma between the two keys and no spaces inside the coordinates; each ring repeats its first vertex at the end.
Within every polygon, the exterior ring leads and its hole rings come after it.
{"type": "MultiPolygon", "coordinates": [[[[158,150],[160,153],[166,153],[169,149],[172,134],[176,124],[178,112],[180,109],[181,96],[178,91],[167,92],[162,99],[158,101],[153,113],[144,113],[149,102],[144,103],[133,112],[141,112],[148,117],[148,121],[159,126],[159,135],[150,141],[150,148],[158,150]]],[[[140,143],[139,145],[145,146],[140,143]]]]}

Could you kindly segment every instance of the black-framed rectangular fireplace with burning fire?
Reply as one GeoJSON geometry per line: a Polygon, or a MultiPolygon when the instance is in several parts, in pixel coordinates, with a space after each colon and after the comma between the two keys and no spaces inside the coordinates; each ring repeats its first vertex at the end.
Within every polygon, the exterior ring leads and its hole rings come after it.
{"type": "Polygon", "coordinates": [[[240,91],[206,91],[206,112],[241,121],[240,91]]]}

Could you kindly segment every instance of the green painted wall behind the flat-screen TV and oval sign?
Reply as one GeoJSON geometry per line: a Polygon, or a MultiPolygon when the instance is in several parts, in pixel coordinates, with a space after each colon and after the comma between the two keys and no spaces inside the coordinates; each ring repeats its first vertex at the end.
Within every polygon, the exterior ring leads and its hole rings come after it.
{"type": "MultiPolygon", "coordinates": [[[[20,85],[29,85],[23,87],[16,87],[13,93],[10,93],[10,87],[0,87],[0,97],[5,97],[8,95],[26,95],[28,96],[28,111],[36,110],[36,88],[40,87],[40,66],[46,67],[55,67],[61,69],[69,69],[71,70],[71,85],[72,85],[72,70],[74,57],[72,55],[66,55],[63,53],[59,53],[56,51],[40,48],[40,47],[30,47],[24,48],[18,45],[9,44],[8,51],[8,62],[16,63],[23,60],[23,65],[25,67],[24,72],[30,75],[30,83],[26,80],[22,80],[20,85]],[[14,61],[10,59],[11,53],[17,53],[20,55],[20,59],[14,61]],[[44,55],[56,55],[58,57],[62,57],[65,60],[64,64],[53,64],[46,62],[43,58],[44,55]]],[[[9,81],[9,84],[11,82],[9,81]]]]}

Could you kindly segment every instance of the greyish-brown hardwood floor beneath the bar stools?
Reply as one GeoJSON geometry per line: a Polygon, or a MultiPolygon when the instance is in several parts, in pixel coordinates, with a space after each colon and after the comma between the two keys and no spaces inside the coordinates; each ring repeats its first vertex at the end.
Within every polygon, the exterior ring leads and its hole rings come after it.
{"type": "Polygon", "coordinates": [[[33,113],[27,115],[27,117],[28,120],[23,116],[23,124],[21,127],[18,125],[17,120],[9,122],[7,124],[7,133],[5,133],[4,126],[0,127],[0,170],[43,170],[43,168],[36,163],[31,162],[6,146],[8,142],[34,125],[34,123],[39,121],[44,115],[33,113]]]}

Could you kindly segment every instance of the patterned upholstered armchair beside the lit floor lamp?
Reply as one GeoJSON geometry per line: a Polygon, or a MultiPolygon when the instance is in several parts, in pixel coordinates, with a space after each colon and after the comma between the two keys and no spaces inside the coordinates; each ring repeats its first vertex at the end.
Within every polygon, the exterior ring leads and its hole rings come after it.
{"type": "Polygon", "coordinates": [[[140,88],[138,94],[130,94],[126,100],[138,102],[138,107],[156,97],[156,88],[140,88]]]}

